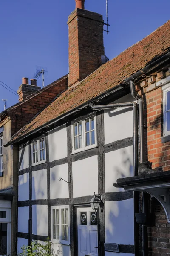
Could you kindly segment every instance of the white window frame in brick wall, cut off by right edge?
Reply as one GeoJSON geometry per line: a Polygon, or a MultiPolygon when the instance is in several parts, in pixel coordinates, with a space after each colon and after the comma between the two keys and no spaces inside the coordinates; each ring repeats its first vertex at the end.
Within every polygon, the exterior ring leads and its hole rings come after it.
{"type": "Polygon", "coordinates": [[[170,135],[170,131],[167,131],[167,92],[170,91],[170,83],[162,87],[163,90],[163,136],[170,135]]]}

